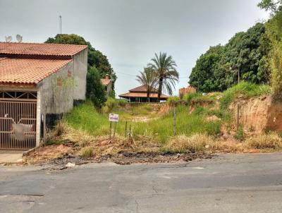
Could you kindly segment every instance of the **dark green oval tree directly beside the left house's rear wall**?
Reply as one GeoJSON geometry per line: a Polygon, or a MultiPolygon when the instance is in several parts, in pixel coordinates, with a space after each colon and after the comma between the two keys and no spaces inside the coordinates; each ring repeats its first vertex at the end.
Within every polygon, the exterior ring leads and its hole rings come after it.
{"type": "Polygon", "coordinates": [[[106,102],[104,87],[100,81],[100,75],[94,66],[87,72],[87,98],[91,99],[94,105],[101,108],[106,102]]]}

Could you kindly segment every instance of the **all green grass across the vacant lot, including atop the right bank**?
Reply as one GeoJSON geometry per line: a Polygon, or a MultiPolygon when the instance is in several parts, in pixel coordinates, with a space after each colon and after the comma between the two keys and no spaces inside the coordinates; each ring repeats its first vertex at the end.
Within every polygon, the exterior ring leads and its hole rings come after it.
{"type": "MultiPolygon", "coordinates": [[[[209,107],[200,107],[195,104],[195,110],[192,114],[188,113],[189,107],[180,105],[176,107],[176,135],[190,136],[195,133],[205,133],[216,136],[220,133],[223,123],[232,121],[232,114],[228,113],[228,105],[238,97],[257,97],[271,93],[271,88],[267,85],[254,85],[241,82],[238,85],[223,92],[220,99],[221,108],[214,109],[212,104],[209,107]],[[221,121],[206,121],[208,116],[217,116],[221,121]]],[[[200,93],[194,93],[185,97],[186,102],[212,102],[219,94],[212,97],[204,96],[200,93]]],[[[174,100],[174,99],[173,99],[174,100]]],[[[109,113],[119,114],[119,122],[116,126],[118,135],[125,135],[125,122],[131,125],[133,138],[142,136],[153,137],[154,140],[165,144],[173,136],[173,111],[162,116],[153,111],[152,104],[116,104],[110,100],[107,103],[111,111],[104,114],[97,112],[91,102],[85,102],[75,107],[70,114],[66,114],[64,121],[77,130],[85,130],[90,135],[102,136],[109,134],[109,113]],[[114,106],[114,107],[113,107],[114,106]],[[154,118],[147,123],[134,122],[134,118],[147,116],[154,118]]]]}

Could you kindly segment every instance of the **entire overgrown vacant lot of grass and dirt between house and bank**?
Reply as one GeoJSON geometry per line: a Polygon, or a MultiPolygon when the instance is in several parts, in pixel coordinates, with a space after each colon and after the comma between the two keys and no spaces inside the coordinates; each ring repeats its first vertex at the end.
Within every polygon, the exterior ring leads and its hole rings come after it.
{"type": "Polygon", "coordinates": [[[61,125],[49,133],[47,146],[27,157],[27,162],[68,155],[98,162],[105,159],[118,162],[126,157],[133,158],[126,163],[171,162],[219,152],[281,151],[280,135],[272,132],[254,135],[243,126],[237,130],[228,109],[238,97],[248,99],[267,94],[271,94],[267,86],[240,83],[223,93],[196,93],[181,100],[173,97],[160,104],[129,104],[109,99],[97,111],[91,102],[85,102],[63,117],[61,125]],[[111,140],[109,113],[119,114],[116,138],[111,140]]]}

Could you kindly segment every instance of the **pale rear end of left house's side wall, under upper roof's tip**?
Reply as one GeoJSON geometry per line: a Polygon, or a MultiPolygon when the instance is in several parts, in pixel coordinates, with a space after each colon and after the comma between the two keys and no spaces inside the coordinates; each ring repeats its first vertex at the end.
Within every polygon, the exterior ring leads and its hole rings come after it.
{"type": "Polygon", "coordinates": [[[74,71],[73,77],[75,87],[73,89],[73,99],[85,100],[86,75],[87,75],[87,49],[80,51],[73,56],[74,71]]]}

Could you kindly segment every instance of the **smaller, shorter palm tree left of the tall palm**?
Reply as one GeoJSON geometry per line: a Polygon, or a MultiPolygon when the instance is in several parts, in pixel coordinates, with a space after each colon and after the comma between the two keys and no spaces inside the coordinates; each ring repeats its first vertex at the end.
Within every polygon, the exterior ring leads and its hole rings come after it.
{"type": "Polygon", "coordinates": [[[140,72],[140,75],[136,75],[136,80],[141,84],[145,85],[147,89],[147,100],[149,102],[149,95],[156,85],[157,78],[154,71],[151,68],[144,68],[143,72],[140,72]]]}

